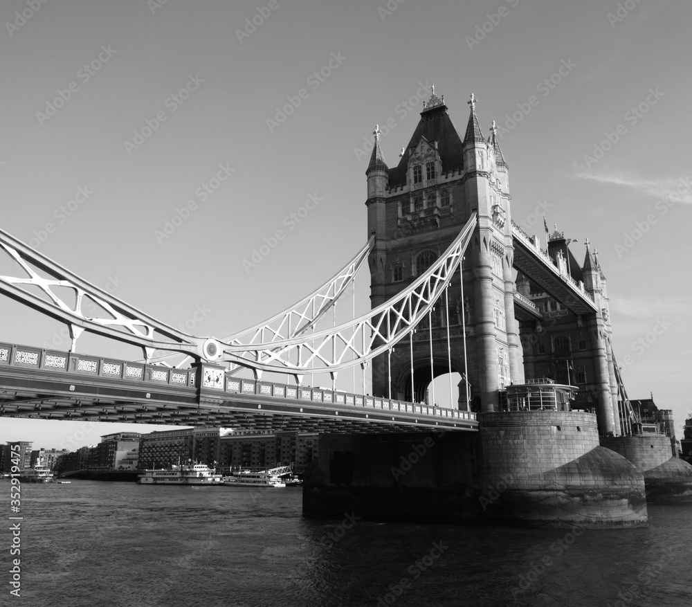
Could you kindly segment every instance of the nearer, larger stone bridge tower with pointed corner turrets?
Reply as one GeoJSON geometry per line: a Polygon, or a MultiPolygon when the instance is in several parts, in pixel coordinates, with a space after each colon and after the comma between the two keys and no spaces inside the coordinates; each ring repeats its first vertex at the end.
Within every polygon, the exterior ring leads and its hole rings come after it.
{"type": "MultiPolygon", "coordinates": [[[[373,361],[372,389],[374,395],[391,393],[392,398],[422,401],[430,381],[451,366],[462,374],[459,408],[493,411],[500,405],[499,390],[520,383],[524,374],[514,316],[509,174],[494,123],[491,136],[484,138],[473,95],[468,105],[471,111],[462,139],[448,116],[444,96],[435,95],[433,87],[399,165],[393,168],[384,161],[379,130],[374,133],[365,172],[368,236],[376,237],[369,260],[372,307],[424,273],[472,212],[477,213],[477,226],[466,250],[463,296],[457,275],[446,301],[438,302],[410,343],[404,340],[391,354],[373,361]]],[[[457,407],[457,403],[439,404],[457,407]]]]}

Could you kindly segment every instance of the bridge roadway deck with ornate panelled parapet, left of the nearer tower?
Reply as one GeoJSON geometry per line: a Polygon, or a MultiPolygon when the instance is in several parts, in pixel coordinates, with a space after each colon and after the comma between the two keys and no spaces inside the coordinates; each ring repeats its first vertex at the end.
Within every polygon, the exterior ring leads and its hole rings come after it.
{"type": "Polygon", "coordinates": [[[475,414],[339,390],[0,343],[0,416],[258,431],[475,431],[475,414]]]}

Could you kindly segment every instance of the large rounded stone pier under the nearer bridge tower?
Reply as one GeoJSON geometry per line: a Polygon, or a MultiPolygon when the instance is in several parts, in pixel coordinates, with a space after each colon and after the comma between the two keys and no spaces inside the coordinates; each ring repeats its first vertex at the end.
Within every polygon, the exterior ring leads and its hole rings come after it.
{"type": "Polygon", "coordinates": [[[480,431],[320,435],[303,513],[424,523],[646,525],[644,477],[599,446],[596,417],[480,414],[480,431]]]}

